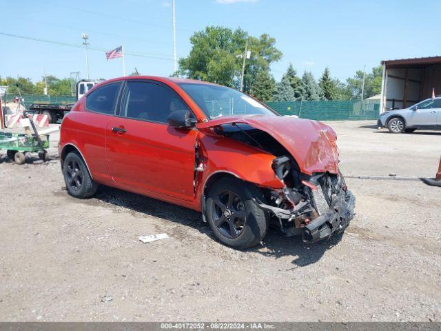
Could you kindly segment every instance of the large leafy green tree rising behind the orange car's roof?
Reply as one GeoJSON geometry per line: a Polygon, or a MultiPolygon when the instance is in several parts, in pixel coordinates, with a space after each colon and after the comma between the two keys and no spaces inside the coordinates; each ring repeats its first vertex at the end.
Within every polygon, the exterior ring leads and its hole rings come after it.
{"type": "Polygon", "coordinates": [[[239,88],[245,45],[251,58],[245,61],[244,90],[250,92],[257,74],[268,70],[282,53],[268,34],[252,37],[244,30],[210,26],[190,37],[192,50],[179,60],[178,75],[239,88]]]}

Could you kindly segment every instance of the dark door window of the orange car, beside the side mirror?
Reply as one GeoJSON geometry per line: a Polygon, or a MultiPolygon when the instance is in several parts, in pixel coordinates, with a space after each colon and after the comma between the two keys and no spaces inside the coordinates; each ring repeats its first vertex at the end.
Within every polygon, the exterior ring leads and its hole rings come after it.
{"type": "Polygon", "coordinates": [[[146,81],[127,82],[124,117],[167,123],[167,117],[176,110],[189,108],[171,88],[146,81]]]}

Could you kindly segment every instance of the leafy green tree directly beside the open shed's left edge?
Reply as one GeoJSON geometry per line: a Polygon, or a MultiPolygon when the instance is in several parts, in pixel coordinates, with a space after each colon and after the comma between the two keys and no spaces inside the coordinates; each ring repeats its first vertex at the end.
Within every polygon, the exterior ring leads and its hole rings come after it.
{"type": "MultiPolygon", "coordinates": [[[[372,72],[365,75],[365,92],[363,99],[372,97],[381,92],[382,66],[372,68],[372,72]]],[[[363,85],[363,70],[357,70],[352,78],[348,78],[347,86],[351,93],[351,99],[360,99],[363,85]]]]}

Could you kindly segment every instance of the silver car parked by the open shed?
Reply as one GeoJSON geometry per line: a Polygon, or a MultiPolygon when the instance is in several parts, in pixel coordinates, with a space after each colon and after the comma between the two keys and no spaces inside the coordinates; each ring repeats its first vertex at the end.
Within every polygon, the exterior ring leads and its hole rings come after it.
{"type": "Polygon", "coordinates": [[[388,128],[392,133],[441,130],[441,97],[421,101],[409,108],[383,112],[378,127],[388,128]]]}

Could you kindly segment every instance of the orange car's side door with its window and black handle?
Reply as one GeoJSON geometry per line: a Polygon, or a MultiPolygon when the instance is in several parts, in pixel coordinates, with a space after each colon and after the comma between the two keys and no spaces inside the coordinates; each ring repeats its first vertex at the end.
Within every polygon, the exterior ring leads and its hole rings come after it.
{"type": "Polygon", "coordinates": [[[169,126],[174,110],[189,107],[165,84],[125,83],[119,117],[106,132],[107,164],[116,183],[192,201],[197,130],[169,126]]]}

